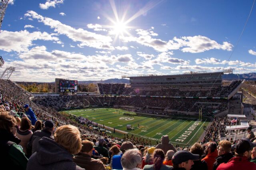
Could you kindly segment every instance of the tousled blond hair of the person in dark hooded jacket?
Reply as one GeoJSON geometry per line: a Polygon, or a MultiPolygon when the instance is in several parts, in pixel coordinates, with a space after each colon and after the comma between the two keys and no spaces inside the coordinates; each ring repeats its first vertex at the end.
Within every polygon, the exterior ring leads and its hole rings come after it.
{"type": "Polygon", "coordinates": [[[58,127],[54,134],[54,140],[68,150],[70,154],[77,154],[82,148],[80,131],[73,125],[58,127]]]}

